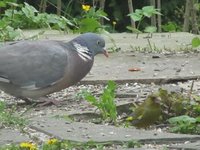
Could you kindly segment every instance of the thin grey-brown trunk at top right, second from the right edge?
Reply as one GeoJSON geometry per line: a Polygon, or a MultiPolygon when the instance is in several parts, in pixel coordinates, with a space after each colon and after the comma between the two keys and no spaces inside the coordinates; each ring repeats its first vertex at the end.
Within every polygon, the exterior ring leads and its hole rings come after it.
{"type": "Polygon", "coordinates": [[[190,9],[191,9],[191,0],[186,0],[185,4],[185,14],[184,14],[184,24],[183,24],[183,31],[189,31],[189,24],[190,24],[190,9]]]}

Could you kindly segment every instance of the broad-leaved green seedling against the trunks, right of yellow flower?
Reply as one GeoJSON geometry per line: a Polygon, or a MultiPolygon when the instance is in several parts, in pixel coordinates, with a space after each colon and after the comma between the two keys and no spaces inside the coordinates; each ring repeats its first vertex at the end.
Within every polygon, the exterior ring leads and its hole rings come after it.
{"type": "MultiPolygon", "coordinates": [[[[136,32],[136,33],[140,33],[140,25],[141,22],[147,17],[150,18],[153,15],[161,15],[161,13],[159,12],[159,9],[154,8],[154,6],[144,6],[142,9],[136,9],[135,12],[128,14],[128,16],[131,17],[131,19],[133,19],[135,22],[138,22],[137,27],[133,28],[128,26],[127,29],[136,32]]],[[[144,29],[144,31],[148,32],[150,31],[150,33],[155,32],[157,30],[156,27],[146,27],[144,29]]]]}

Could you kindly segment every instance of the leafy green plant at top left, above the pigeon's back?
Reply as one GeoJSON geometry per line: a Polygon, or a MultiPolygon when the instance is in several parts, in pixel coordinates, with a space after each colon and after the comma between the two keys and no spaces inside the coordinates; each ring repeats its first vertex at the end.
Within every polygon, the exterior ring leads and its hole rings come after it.
{"type": "Polygon", "coordinates": [[[55,14],[39,13],[28,3],[24,3],[23,6],[16,5],[15,7],[7,9],[2,17],[2,21],[7,22],[13,28],[36,29],[49,27],[69,30],[68,26],[74,26],[67,18],[55,14]],[[15,9],[15,7],[18,9],[15,9]]]}

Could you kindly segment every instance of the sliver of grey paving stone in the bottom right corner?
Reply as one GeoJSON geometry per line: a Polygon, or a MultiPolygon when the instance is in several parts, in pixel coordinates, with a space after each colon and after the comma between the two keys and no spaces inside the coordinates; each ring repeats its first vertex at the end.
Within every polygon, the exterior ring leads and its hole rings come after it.
{"type": "Polygon", "coordinates": [[[194,143],[172,145],[169,148],[176,148],[177,150],[200,150],[200,141],[194,143]]]}

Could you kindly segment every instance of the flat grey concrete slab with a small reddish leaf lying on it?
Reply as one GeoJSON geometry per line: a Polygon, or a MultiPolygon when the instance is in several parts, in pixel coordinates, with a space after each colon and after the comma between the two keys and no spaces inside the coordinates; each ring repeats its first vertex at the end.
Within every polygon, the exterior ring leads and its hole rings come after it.
{"type": "Polygon", "coordinates": [[[200,78],[199,54],[159,55],[112,53],[110,58],[101,55],[95,57],[91,72],[82,83],[103,83],[115,80],[121,83],[170,83],[200,78]],[[140,71],[129,71],[140,68],[140,71]]]}

